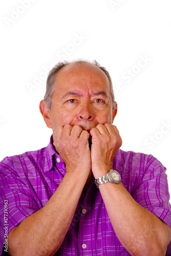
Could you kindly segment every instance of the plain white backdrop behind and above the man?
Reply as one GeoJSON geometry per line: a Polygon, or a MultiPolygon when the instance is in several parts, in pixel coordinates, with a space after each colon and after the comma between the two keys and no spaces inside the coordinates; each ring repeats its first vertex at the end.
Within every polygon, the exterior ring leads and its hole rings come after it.
{"type": "Polygon", "coordinates": [[[37,150],[47,73],[96,59],[111,74],[124,151],[152,154],[171,191],[170,0],[1,1],[0,160],[37,150]]]}

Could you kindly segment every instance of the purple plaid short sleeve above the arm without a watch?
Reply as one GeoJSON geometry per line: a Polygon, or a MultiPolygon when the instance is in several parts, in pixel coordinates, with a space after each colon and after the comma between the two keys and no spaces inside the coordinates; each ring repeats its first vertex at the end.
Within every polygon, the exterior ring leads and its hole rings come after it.
{"type": "Polygon", "coordinates": [[[6,157],[0,163],[0,255],[7,233],[38,209],[28,186],[6,157]]]}

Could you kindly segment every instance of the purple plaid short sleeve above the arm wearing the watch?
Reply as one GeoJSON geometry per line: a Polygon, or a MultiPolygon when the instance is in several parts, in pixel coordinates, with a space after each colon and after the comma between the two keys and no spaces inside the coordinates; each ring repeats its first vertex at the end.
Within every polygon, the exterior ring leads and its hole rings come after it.
{"type": "Polygon", "coordinates": [[[171,227],[171,206],[166,168],[152,155],[148,161],[139,185],[132,195],[144,208],[151,211],[171,227]]]}

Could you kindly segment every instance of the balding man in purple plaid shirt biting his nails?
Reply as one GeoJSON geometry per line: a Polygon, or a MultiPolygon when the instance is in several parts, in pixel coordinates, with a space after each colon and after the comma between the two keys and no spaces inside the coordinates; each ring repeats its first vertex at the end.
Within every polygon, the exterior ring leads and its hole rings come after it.
{"type": "Polygon", "coordinates": [[[59,63],[40,112],[53,131],[50,144],[1,162],[10,255],[165,255],[165,167],[119,149],[109,73],[97,62],[59,63]]]}

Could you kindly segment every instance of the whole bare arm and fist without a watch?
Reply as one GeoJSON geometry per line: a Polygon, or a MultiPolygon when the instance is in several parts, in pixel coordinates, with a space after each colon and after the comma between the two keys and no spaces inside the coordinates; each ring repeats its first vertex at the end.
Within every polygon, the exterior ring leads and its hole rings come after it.
{"type": "Polygon", "coordinates": [[[65,239],[91,168],[89,133],[81,132],[79,126],[58,127],[54,145],[67,173],[47,204],[11,230],[11,255],[54,255],[65,239]]]}

